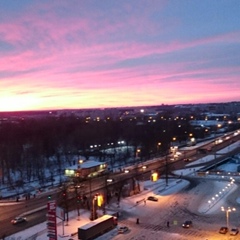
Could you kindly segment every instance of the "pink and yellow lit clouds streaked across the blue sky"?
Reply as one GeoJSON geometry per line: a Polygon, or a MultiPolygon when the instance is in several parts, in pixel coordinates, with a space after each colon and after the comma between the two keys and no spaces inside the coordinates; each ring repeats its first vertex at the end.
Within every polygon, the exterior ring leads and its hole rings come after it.
{"type": "MultiPolygon", "coordinates": [[[[97,99],[102,100],[101,106],[108,107],[119,103],[184,103],[193,99],[201,102],[223,96],[228,99],[225,93],[229,99],[239,98],[238,67],[211,67],[210,60],[204,57],[195,62],[191,58],[180,62],[174,57],[171,61],[164,58],[209,44],[239,43],[240,32],[188,41],[175,38],[170,42],[143,42],[128,35],[134,32],[155,37],[155,33],[164,35],[166,31],[161,24],[150,22],[149,12],[143,9],[126,6],[128,12],[134,13],[125,16],[126,24],[104,17],[102,22],[96,22],[98,11],[89,13],[93,18],[59,18],[52,11],[54,5],[48,11],[46,7],[49,5],[41,5],[44,17],[33,8],[28,15],[0,23],[1,39],[12,46],[0,58],[0,95],[6,89],[4,95],[35,97],[35,105],[28,106],[33,109],[46,107],[50,99],[55,99],[51,103],[57,102],[55,107],[74,108],[95,107],[99,104],[97,99]],[[142,18],[136,18],[139,12],[143,13],[142,18]],[[161,61],[145,62],[155,57],[161,57],[161,61]],[[209,68],[200,67],[208,61],[209,68]]],[[[116,14],[120,13],[116,10],[116,14]]]]}

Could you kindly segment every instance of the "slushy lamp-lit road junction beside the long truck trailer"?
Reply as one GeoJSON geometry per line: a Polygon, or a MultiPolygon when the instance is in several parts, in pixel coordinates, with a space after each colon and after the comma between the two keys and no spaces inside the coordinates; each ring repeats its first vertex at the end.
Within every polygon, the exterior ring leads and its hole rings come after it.
{"type": "MultiPolygon", "coordinates": [[[[218,184],[217,184],[218,185],[218,184]]],[[[223,183],[224,185],[224,183],[223,183]]],[[[229,234],[225,237],[218,233],[221,226],[226,226],[225,212],[221,211],[221,203],[216,205],[216,211],[209,213],[200,212],[200,206],[205,204],[216,189],[216,181],[205,179],[193,179],[189,186],[182,191],[172,195],[162,195],[158,202],[148,201],[146,205],[140,204],[134,211],[124,212],[120,219],[120,226],[128,226],[130,231],[118,235],[114,231],[98,238],[99,240],[200,240],[200,239],[231,239],[229,234]],[[139,218],[140,224],[136,224],[139,218]],[[191,220],[193,227],[184,229],[181,224],[185,220],[191,220]],[[167,222],[170,227],[167,227],[167,222]]],[[[233,201],[239,191],[236,189],[227,197],[226,202],[239,210],[239,205],[233,201]],[[232,201],[230,201],[232,199],[232,201]]],[[[161,195],[161,194],[160,194],[161,195]]],[[[238,214],[232,213],[229,219],[230,226],[239,224],[238,214]]],[[[238,238],[234,238],[238,239],[238,238]]]]}

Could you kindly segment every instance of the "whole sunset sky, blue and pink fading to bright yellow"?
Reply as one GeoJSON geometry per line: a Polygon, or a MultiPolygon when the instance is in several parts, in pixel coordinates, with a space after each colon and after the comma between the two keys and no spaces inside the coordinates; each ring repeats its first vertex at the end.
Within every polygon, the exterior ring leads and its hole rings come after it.
{"type": "Polygon", "coordinates": [[[0,1],[0,111],[230,101],[239,0],[0,1]]]}

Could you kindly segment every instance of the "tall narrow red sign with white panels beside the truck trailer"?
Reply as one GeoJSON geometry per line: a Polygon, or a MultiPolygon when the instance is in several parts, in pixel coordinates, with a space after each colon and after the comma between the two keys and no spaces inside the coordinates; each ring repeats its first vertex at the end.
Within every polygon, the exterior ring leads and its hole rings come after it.
{"type": "Polygon", "coordinates": [[[49,240],[57,239],[57,218],[56,218],[56,202],[51,201],[47,204],[47,230],[49,240]]]}

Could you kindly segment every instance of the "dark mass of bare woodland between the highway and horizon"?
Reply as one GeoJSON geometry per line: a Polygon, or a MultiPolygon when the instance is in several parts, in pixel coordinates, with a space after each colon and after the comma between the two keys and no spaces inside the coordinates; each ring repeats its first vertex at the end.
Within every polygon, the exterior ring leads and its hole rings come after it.
{"type": "Polygon", "coordinates": [[[114,152],[112,164],[136,157],[138,148],[145,161],[164,154],[173,137],[185,141],[192,130],[188,117],[176,119],[169,113],[156,116],[155,121],[143,116],[86,121],[86,117],[72,115],[5,122],[0,125],[1,184],[21,186],[22,181],[32,180],[44,183],[49,176],[62,174],[64,167],[74,164],[80,156],[89,159],[94,155],[104,161],[109,157],[105,150],[117,148],[120,140],[134,150],[122,156],[114,152]]]}

